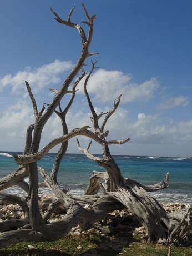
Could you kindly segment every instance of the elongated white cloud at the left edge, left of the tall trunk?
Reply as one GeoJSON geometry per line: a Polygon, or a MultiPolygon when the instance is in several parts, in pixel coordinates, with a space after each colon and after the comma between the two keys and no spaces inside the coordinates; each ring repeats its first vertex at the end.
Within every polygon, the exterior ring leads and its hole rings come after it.
{"type": "Polygon", "coordinates": [[[0,90],[7,86],[12,87],[12,92],[21,92],[23,90],[24,81],[28,81],[34,92],[39,92],[44,86],[56,84],[60,82],[59,75],[72,67],[70,61],[54,62],[32,69],[26,67],[23,71],[18,71],[16,74],[6,74],[0,78],[0,90]]]}

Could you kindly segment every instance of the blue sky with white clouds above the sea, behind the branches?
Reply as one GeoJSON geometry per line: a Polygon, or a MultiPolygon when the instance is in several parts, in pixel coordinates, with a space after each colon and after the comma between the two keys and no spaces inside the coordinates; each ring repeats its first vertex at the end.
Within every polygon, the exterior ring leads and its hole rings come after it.
{"type": "MultiPolygon", "coordinates": [[[[84,1],[96,14],[90,52],[98,59],[88,92],[97,113],[113,107],[123,94],[118,110],[109,119],[107,139],[131,140],[112,145],[113,154],[191,156],[192,143],[192,29],[190,0],[84,1]]],[[[23,151],[26,129],[34,122],[24,81],[31,85],[37,105],[49,103],[81,51],[75,29],[54,20],[49,7],[72,22],[84,21],[78,0],[1,0],[0,8],[0,150],[23,151]]],[[[84,26],[84,25],[82,25],[84,26]]],[[[85,26],[87,32],[87,27],[85,26]]],[[[67,122],[68,128],[90,125],[90,111],[78,85],[67,122]]],[[[62,106],[68,97],[62,100],[62,106]]],[[[44,127],[41,148],[62,135],[53,114],[44,127]]],[[[88,138],[79,138],[82,146],[88,138]]],[[[56,152],[54,148],[53,152],[56,152]]],[[[102,153],[93,143],[90,151],[102,153]]],[[[68,153],[79,153],[75,139],[68,153]]]]}

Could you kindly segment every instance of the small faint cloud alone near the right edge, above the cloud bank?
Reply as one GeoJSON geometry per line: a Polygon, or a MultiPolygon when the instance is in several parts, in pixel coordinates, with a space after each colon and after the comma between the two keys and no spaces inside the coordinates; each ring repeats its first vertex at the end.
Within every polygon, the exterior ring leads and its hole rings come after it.
{"type": "Polygon", "coordinates": [[[189,104],[189,98],[183,95],[176,97],[176,98],[169,98],[165,102],[161,103],[158,106],[158,109],[171,109],[178,106],[186,107],[189,104]]]}

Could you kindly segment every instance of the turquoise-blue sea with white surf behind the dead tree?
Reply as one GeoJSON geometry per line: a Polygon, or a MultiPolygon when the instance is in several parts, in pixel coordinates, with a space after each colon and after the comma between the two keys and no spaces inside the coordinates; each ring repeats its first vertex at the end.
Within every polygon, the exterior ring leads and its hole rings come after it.
{"type": "MultiPolygon", "coordinates": [[[[17,169],[13,154],[21,154],[21,152],[0,153],[0,178],[17,169]]],[[[55,153],[48,153],[38,161],[38,166],[43,167],[49,173],[54,157],[55,153]]],[[[151,195],[164,201],[192,203],[192,157],[115,155],[114,159],[124,177],[137,180],[142,184],[158,183],[164,178],[165,173],[169,172],[170,187],[151,193],[151,195]]],[[[65,154],[58,174],[59,184],[65,189],[70,189],[71,194],[83,194],[93,170],[103,171],[104,169],[83,154],[65,154]]],[[[28,182],[28,178],[26,181],[28,182]]],[[[18,187],[7,190],[14,194],[23,193],[18,187]]],[[[40,188],[39,193],[49,194],[50,191],[48,188],[40,188]]]]}

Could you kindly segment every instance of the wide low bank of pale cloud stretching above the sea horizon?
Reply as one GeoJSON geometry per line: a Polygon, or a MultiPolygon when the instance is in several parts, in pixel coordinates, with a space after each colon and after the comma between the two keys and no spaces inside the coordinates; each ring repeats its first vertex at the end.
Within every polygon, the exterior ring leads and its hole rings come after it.
{"type": "MultiPolygon", "coordinates": [[[[108,107],[104,109],[95,108],[95,111],[100,113],[101,111],[106,112],[108,109],[108,107]]],[[[69,111],[67,115],[68,129],[71,130],[75,127],[90,125],[89,117],[89,112],[83,113],[82,111],[79,111],[74,113],[69,111]]],[[[13,106],[9,107],[7,111],[4,111],[0,117],[0,150],[23,150],[26,129],[29,124],[32,124],[33,122],[34,117],[32,108],[31,106],[29,107],[25,101],[14,104],[13,106]]],[[[185,145],[192,143],[192,119],[175,124],[162,124],[161,122],[162,119],[158,115],[145,115],[145,118],[139,118],[134,122],[130,122],[129,112],[126,109],[118,108],[117,111],[110,117],[105,127],[105,129],[109,130],[107,140],[125,139],[128,137],[131,138],[131,144],[128,143],[123,146],[115,145],[113,147],[114,154],[124,153],[124,147],[128,147],[129,149],[128,153],[126,154],[131,154],[132,148],[135,148],[135,145],[137,144],[143,144],[143,148],[144,145],[147,146],[156,144],[156,147],[158,147],[158,145],[160,147],[160,145],[169,144],[171,145],[173,151],[175,148],[177,148],[177,154],[183,155],[185,145]],[[175,144],[178,144],[178,147],[175,147],[175,144]]],[[[60,135],[62,135],[60,119],[54,114],[43,129],[41,147],[43,147],[53,138],[59,137],[60,135]]],[[[80,137],[79,139],[83,146],[86,146],[89,140],[89,138],[84,137],[80,137]]],[[[75,139],[70,140],[69,144],[70,152],[78,152],[75,139]]],[[[169,147],[169,150],[171,147],[169,147]]],[[[171,155],[172,152],[168,152],[166,147],[164,148],[164,154],[171,155]]],[[[54,148],[54,151],[55,150],[56,149],[54,148]]],[[[100,147],[98,147],[97,143],[95,143],[95,145],[93,144],[90,150],[93,150],[92,152],[101,153],[100,147]]],[[[135,150],[135,152],[137,152],[137,149],[135,150]]],[[[153,154],[153,152],[150,152],[150,148],[148,152],[149,154],[153,154]]],[[[143,151],[143,153],[141,152],[140,154],[145,154],[145,152],[143,151]]]]}

